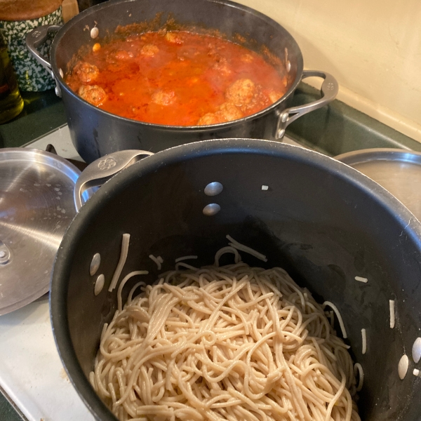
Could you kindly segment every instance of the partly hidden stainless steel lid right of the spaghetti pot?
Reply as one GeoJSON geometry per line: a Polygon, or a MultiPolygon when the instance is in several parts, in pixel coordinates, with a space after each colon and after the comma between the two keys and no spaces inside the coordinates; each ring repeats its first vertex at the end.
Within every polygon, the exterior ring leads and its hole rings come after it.
{"type": "Polygon", "coordinates": [[[389,190],[421,221],[421,153],[362,149],[335,156],[389,190]]]}

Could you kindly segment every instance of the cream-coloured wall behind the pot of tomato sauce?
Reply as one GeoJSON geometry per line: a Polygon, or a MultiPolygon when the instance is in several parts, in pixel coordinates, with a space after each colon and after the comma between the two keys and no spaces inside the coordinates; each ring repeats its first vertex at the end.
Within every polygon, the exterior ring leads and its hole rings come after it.
{"type": "Polygon", "coordinates": [[[236,0],[279,22],[338,99],[421,141],[420,0],[236,0]]]}

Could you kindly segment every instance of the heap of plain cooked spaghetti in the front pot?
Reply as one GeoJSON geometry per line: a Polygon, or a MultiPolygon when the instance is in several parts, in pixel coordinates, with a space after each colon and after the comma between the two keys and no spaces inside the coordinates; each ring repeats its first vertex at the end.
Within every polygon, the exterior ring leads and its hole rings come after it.
{"type": "Polygon", "coordinates": [[[136,283],[90,380],[121,421],[357,421],[347,348],[308,290],[228,247],[214,266],[136,283]]]}

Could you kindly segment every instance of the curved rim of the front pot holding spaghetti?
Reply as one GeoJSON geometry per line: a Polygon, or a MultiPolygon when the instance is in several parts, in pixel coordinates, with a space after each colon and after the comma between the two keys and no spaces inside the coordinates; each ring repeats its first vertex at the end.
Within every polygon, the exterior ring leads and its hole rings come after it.
{"type": "Polygon", "coordinates": [[[239,152],[243,154],[277,156],[282,159],[300,161],[306,165],[319,168],[333,177],[341,178],[345,182],[354,185],[354,187],[358,187],[363,194],[372,197],[382,208],[385,208],[388,213],[392,214],[394,219],[401,225],[402,232],[405,232],[410,239],[417,243],[418,248],[421,250],[421,223],[398,199],[378,185],[377,182],[366,177],[366,175],[347,166],[345,163],[319,152],[270,140],[218,139],[180,145],[147,156],[147,158],[114,175],[83,205],[63,237],[55,258],[53,276],[51,278],[50,311],[55,344],[69,380],[82,401],[98,420],[116,421],[116,418],[105,406],[105,403],[101,401],[83,374],[73,349],[67,324],[67,283],[64,280],[67,279],[67,274],[72,267],[69,257],[74,255],[79,237],[89,225],[95,213],[107,206],[114,194],[126,189],[131,179],[138,177],[139,173],[144,177],[159,170],[159,167],[163,165],[194,159],[195,156],[239,152]]]}

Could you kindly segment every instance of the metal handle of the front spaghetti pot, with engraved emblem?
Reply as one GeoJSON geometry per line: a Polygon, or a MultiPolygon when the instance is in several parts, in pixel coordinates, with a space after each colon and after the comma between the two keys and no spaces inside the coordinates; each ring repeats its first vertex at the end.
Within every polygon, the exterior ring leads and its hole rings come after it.
{"type": "Polygon", "coordinates": [[[131,166],[133,163],[140,161],[144,155],[153,155],[153,152],[140,150],[126,150],[113,152],[98,158],[90,163],[79,175],[74,186],[74,206],[76,212],[79,212],[83,205],[83,192],[91,187],[99,187],[113,175],[119,173],[124,168],[131,166]]]}

